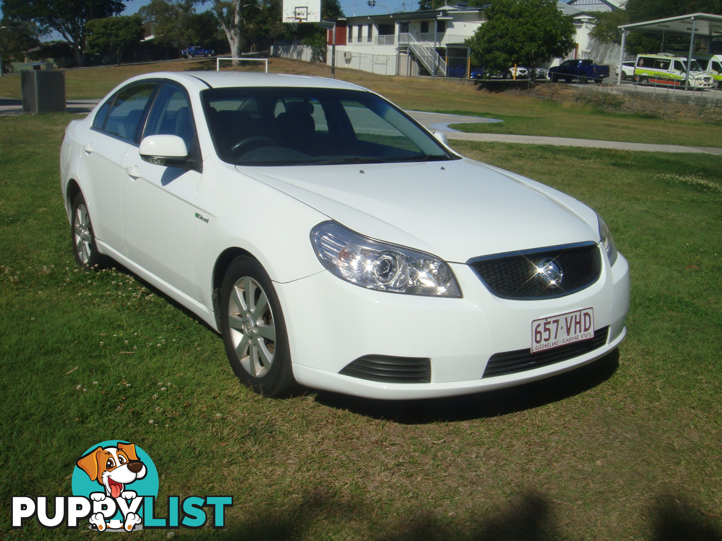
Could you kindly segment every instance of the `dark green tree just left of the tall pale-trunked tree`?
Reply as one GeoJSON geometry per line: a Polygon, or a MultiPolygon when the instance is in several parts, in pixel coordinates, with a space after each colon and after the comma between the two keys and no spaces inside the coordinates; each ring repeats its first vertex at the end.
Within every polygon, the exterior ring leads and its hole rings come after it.
{"type": "Polygon", "coordinates": [[[155,23],[155,42],[178,48],[203,45],[218,38],[218,21],[212,12],[196,13],[194,0],[152,0],[138,14],[155,23]]]}

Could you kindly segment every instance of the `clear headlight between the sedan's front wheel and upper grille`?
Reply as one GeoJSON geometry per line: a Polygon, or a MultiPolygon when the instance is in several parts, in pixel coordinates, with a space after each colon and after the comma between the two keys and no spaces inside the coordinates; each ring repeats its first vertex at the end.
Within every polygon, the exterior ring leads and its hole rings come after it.
{"type": "Polygon", "coordinates": [[[318,224],[310,237],[323,266],[357,286],[410,295],[461,297],[451,268],[434,255],[364,237],[335,221],[318,224]]]}

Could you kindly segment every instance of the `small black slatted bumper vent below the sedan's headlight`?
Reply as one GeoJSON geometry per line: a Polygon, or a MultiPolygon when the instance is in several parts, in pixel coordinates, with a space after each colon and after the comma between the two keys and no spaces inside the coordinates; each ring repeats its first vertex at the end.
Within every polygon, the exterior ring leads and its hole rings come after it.
{"type": "Polygon", "coordinates": [[[431,359],[366,355],[347,364],[339,374],[372,382],[430,383],[431,359]]]}

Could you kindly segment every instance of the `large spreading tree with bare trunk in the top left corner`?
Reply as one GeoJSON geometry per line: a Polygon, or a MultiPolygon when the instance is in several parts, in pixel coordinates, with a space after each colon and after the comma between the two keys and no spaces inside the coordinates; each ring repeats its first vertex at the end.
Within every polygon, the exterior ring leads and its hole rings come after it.
{"type": "Polygon", "coordinates": [[[55,30],[73,45],[79,66],[85,65],[86,24],[120,14],[121,0],[2,0],[2,12],[41,29],[55,30]]]}

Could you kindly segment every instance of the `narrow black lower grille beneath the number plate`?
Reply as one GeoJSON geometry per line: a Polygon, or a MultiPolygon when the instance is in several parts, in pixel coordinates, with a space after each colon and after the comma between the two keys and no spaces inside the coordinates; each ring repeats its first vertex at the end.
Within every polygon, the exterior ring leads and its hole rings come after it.
{"type": "Polygon", "coordinates": [[[594,338],[590,340],[580,340],[558,348],[544,349],[536,353],[531,353],[531,348],[494,353],[489,358],[482,378],[516,374],[517,372],[539,368],[539,366],[574,359],[604,346],[608,334],[609,327],[601,327],[601,329],[594,331],[594,338]]]}

